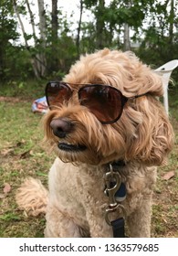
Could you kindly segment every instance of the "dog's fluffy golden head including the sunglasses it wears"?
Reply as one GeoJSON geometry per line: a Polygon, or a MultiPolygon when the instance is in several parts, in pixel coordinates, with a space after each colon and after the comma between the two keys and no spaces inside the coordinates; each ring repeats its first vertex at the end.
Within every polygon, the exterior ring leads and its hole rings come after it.
{"type": "Polygon", "coordinates": [[[99,50],[81,57],[63,81],[47,86],[44,122],[59,158],[91,165],[165,161],[173,128],[158,100],[162,78],[134,54],[99,50]]]}

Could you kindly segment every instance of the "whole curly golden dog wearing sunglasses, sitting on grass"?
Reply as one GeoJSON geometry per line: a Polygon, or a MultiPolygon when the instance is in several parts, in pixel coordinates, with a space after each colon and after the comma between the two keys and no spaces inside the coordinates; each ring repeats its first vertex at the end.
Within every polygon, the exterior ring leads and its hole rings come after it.
{"type": "Polygon", "coordinates": [[[28,178],[16,194],[28,214],[46,213],[45,237],[110,238],[118,219],[127,236],[151,236],[157,166],[173,148],[162,94],[159,74],[132,52],[108,48],[47,83],[45,144],[57,158],[48,190],[28,178]]]}

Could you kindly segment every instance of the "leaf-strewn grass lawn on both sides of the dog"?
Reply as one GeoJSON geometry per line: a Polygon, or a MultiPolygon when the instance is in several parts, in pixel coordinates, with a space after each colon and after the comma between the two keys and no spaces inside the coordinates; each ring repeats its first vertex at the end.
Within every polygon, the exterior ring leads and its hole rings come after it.
{"type": "MultiPolygon", "coordinates": [[[[47,173],[55,155],[47,155],[39,142],[43,132],[41,115],[31,112],[32,101],[44,95],[42,82],[11,82],[1,87],[0,97],[0,237],[43,237],[45,217],[26,217],[16,207],[17,187],[26,176],[47,185],[47,173]],[[6,98],[13,97],[13,98],[6,98]],[[5,185],[10,191],[5,194],[5,185]]],[[[169,165],[160,167],[153,197],[152,237],[178,237],[178,89],[171,88],[171,121],[175,146],[169,165]],[[162,176],[174,171],[175,176],[162,176]]]]}

